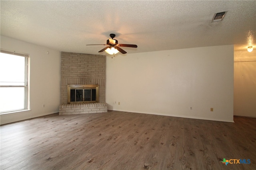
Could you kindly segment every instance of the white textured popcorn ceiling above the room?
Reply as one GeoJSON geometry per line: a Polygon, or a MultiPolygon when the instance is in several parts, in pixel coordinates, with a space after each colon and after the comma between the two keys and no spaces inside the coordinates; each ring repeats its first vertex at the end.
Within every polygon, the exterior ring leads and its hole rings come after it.
{"type": "MultiPolygon", "coordinates": [[[[256,46],[256,1],[0,1],[1,35],[58,51],[98,53],[110,33],[128,53],[256,46]],[[212,23],[216,12],[228,11],[212,23]]],[[[255,48],[254,48],[255,49],[255,48]]]]}

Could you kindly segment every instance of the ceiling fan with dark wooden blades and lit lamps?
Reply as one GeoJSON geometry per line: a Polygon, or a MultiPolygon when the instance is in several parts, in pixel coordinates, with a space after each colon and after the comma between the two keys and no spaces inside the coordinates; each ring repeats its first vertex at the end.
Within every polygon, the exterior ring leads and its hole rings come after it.
{"type": "Polygon", "coordinates": [[[106,51],[110,55],[114,55],[118,52],[122,54],[126,54],[127,52],[121,49],[120,47],[132,47],[137,48],[137,45],[134,44],[118,44],[118,41],[116,39],[113,39],[116,35],[110,34],[110,37],[112,39],[107,40],[107,44],[90,44],[90,45],[109,45],[108,47],[105,47],[104,49],[100,50],[99,53],[106,51]]]}

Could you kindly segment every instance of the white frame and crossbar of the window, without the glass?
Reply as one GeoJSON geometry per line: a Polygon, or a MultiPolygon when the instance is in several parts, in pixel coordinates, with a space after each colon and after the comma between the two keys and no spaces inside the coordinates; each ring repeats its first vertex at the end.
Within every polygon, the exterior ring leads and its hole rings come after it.
{"type": "Polygon", "coordinates": [[[20,112],[20,111],[29,110],[30,109],[30,102],[29,102],[29,96],[30,96],[29,95],[29,63],[30,63],[30,58],[29,58],[29,55],[26,54],[26,53],[20,53],[20,52],[17,52],[17,51],[10,51],[10,50],[6,50],[6,49],[1,49],[0,52],[25,57],[24,86],[13,86],[13,85],[12,86],[8,86],[8,85],[0,86],[0,88],[1,87],[11,87],[11,88],[24,87],[24,108],[16,109],[16,110],[0,111],[0,115],[1,114],[16,113],[16,112],[20,112]]]}

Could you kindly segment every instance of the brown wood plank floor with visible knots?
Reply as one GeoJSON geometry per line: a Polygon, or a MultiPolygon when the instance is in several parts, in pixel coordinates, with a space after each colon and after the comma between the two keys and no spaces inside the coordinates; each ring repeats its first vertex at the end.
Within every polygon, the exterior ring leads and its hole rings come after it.
{"type": "Polygon", "coordinates": [[[1,170],[255,170],[256,119],[235,123],[121,111],[2,125],[1,170]],[[250,159],[250,164],[222,160],[250,159]]]}

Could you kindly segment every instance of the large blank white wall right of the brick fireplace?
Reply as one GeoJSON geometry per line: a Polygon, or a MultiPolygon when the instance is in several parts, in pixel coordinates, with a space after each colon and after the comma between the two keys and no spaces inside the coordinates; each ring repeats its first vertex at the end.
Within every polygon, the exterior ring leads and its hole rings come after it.
{"type": "Polygon", "coordinates": [[[108,109],[233,122],[233,62],[233,45],[107,57],[108,109]]]}

